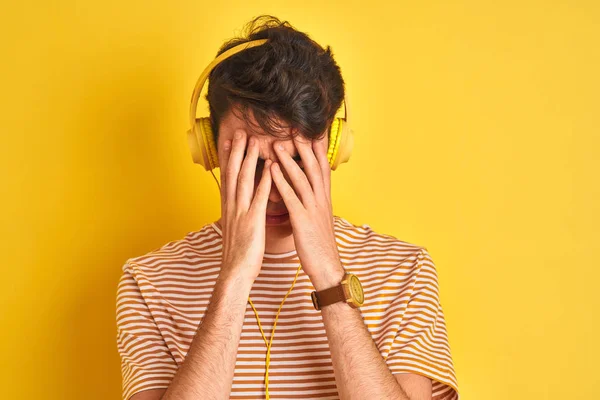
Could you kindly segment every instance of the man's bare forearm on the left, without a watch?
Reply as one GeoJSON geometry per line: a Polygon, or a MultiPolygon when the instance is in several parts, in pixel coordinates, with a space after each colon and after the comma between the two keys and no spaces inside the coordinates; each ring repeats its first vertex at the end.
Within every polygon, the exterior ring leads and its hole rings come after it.
{"type": "Polygon", "coordinates": [[[219,276],[206,315],[163,400],[229,399],[252,283],[219,276]]]}

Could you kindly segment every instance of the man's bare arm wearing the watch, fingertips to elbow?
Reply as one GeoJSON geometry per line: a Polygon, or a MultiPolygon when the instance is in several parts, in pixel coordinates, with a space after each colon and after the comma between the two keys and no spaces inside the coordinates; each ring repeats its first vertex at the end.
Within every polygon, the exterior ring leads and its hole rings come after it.
{"type": "MultiPolygon", "coordinates": [[[[273,181],[290,210],[294,243],[302,268],[315,289],[321,291],[338,285],[344,275],[333,226],[327,136],[305,141],[298,135],[294,137],[294,144],[306,174],[293,161],[283,143],[275,141],[275,152],[294,188],[284,178],[278,163],[272,167],[273,181]]],[[[341,399],[349,399],[351,395],[352,399],[431,398],[431,381],[426,378],[394,378],[359,310],[336,303],[325,307],[322,316],[341,399]],[[404,388],[410,391],[411,398],[404,388]]]]}

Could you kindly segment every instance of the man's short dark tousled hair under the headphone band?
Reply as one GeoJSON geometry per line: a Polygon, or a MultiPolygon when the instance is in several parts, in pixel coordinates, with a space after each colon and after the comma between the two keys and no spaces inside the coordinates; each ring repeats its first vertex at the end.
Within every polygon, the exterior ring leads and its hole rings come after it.
{"type": "Polygon", "coordinates": [[[331,48],[323,49],[287,21],[260,15],[246,24],[242,37],[223,44],[217,56],[256,39],[268,41],[222,61],[209,75],[206,100],[215,143],[229,111],[241,111],[254,131],[248,110],[272,136],[281,137],[278,132],[291,127],[292,134],[322,138],[344,99],[344,80],[331,48]]]}

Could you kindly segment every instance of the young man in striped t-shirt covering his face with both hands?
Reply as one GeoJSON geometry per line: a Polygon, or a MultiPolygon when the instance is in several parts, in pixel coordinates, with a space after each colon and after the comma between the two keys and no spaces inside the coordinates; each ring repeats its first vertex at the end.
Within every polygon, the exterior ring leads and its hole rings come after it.
{"type": "Polygon", "coordinates": [[[123,398],[458,399],[427,250],[333,215],[329,48],[266,16],[219,54],[266,38],[210,74],[221,218],[123,267],[123,398]]]}

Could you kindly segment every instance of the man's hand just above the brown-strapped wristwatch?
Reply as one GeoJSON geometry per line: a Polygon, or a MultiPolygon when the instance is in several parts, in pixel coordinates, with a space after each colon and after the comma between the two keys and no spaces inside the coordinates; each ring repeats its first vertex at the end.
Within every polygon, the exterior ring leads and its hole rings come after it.
{"type": "Polygon", "coordinates": [[[344,269],[335,241],[326,136],[309,141],[297,135],[294,143],[307,174],[287,151],[279,148],[277,141],[273,143],[273,148],[279,163],[273,163],[271,173],[290,214],[294,243],[302,268],[316,290],[327,289],[341,282],[344,269]],[[284,178],[279,164],[283,165],[292,180],[295,192],[284,178]]]}

